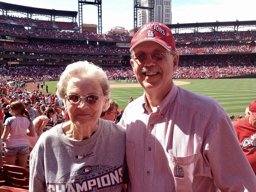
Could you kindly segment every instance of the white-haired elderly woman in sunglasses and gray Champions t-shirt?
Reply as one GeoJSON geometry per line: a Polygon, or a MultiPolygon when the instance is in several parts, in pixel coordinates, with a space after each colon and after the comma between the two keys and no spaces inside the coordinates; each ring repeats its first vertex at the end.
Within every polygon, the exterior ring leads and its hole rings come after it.
{"type": "Polygon", "coordinates": [[[30,191],[121,191],[125,130],[100,117],[110,102],[105,72],[67,66],[57,84],[70,120],[44,132],[30,154],[30,191]]]}

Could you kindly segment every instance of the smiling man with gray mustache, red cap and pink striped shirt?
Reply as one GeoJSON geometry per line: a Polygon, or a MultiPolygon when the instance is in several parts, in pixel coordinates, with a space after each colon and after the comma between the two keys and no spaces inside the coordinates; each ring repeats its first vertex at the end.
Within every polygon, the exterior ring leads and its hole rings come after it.
{"type": "Polygon", "coordinates": [[[179,55],[171,30],[145,24],[130,51],[144,94],[120,120],[126,128],[127,191],[255,191],[255,174],[225,110],[173,83],[179,55]]]}

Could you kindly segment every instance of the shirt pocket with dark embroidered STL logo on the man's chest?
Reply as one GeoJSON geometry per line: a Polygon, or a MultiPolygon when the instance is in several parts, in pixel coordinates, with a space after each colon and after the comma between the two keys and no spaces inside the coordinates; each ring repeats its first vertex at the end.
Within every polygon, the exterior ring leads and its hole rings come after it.
{"type": "Polygon", "coordinates": [[[174,178],[176,192],[189,192],[192,190],[197,158],[197,153],[184,157],[172,156],[167,153],[169,168],[174,178]]]}

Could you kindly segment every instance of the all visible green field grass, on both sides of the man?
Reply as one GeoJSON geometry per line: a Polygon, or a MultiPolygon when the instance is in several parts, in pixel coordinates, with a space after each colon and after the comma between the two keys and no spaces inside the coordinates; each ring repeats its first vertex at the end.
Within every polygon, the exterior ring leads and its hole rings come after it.
{"type": "MultiPolygon", "coordinates": [[[[191,84],[180,85],[180,87],[216,99],[229,115],[244,116],[245,108],[256,100],[256,79],[177,79],[177,81],[190,82],[191,84]]],[[[47,84],[49,92],[55,94],[57,82],[52,81],[47,84]]],[[[110,84],[125,85],[125,81],[110,84]]],[[[123,109],[128,105],[130,96],[136,99],[142,94],[142,88],[111,88],[111,99],[116,100],[119,107],[123,109]]]]}

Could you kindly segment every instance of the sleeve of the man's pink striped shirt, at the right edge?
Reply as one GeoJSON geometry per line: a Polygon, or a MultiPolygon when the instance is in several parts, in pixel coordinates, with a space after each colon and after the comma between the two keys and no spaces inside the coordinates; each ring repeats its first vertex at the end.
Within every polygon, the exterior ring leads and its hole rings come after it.
{"type": "Polygon", "coordinates": [[[204,140],[203,157],[209,162],[213,179],[221,191],[255,191],[255,174],[227,118],[228,115],[221,117],[212,125],[204,140]]]}

